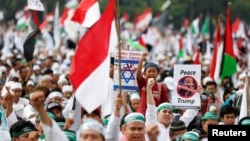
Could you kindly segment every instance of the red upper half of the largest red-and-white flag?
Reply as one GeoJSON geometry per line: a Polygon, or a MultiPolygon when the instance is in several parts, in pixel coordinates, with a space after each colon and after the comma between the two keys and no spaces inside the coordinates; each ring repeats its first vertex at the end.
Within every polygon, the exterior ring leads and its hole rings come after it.
{"type": "MultiPolygon", "coordinates": [[[[114,1],[114,0],[112,0],[114,1]]],[[[109,53],[111,23],[114,19],[114,2],[108,5],[109,11],[80,40],[71,65],[70,79],[75,89],[105,60],[109,53]],[[113,10],[113,11],[110,11],[113,10]],[[108,15],[111,14],[111,15],[108,15]],[[103,26],[106,25],[106,26],[103,26]],[[110,26],[109,26],[110,25],[110,26]],[[104,35],[100,34],[107,33],[104,35]]]]}

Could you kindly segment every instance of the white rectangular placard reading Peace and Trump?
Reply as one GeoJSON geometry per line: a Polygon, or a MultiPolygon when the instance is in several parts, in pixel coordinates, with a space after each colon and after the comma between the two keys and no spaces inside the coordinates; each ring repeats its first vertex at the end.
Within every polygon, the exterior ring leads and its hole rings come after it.
{"type": "Polygon", "coordinates": [[[200,65],[174,65],[174,90],[171,104],[175,109],[200,109],[198,88],[201,80],[200,65]]]}

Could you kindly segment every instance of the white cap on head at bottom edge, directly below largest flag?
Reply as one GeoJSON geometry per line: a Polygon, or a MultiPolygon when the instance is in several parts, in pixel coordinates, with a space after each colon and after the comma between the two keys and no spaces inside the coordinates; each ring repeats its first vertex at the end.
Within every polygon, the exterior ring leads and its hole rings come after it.
{"type": "Polygon", "coordinates": [[[79,137],[80,134],[84,134],[84,132],[87,130],[92,130],[100,133],[104,139],[106,137],[105,128],[96,120],[93,119],[85,120],[84,123],[79,128],[79,133],[77,136],[79,137]]]}

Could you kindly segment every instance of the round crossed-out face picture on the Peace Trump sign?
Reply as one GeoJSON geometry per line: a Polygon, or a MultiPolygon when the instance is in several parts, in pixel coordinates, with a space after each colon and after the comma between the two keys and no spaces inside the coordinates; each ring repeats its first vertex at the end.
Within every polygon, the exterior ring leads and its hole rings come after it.
{"type": "Polygon", "coordinates": [[[197,81],[192,76],[182,77],[177,84],[177,94],[183,98],[192,97],[198,89],[197,81]]]}

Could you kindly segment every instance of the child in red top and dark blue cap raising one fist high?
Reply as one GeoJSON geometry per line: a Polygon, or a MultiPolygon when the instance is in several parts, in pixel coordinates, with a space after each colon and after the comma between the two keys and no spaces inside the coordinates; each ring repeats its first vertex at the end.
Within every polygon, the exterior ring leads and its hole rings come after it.
{"type": "MultiPolygon", "coordinates": [[[[142,73],[142,67],[143,67],[143,62],[146,60],[147,53],[143,53],[141,60],[139,62],[137,71],[136,71],[136,80],[137,84],[140,90],[140,97],[141,97],[141,103],[140,107],[137,110],[138,112],[145,114],[146,109],[147,109],[147,81],[150,78],[153,78],[153,80],[156,80],[158,74],[159,74],[159,68],[155,63],[146,63],[144,66],[144,71],[142,73]]],[[[168,98],[168,89],[165,84],[155,82],[153,87],[152,87],[152,93],[154,96],[154,101],[156,106],[160,105],[161,103],[164,102],[169,102],[168,98]]]]}

